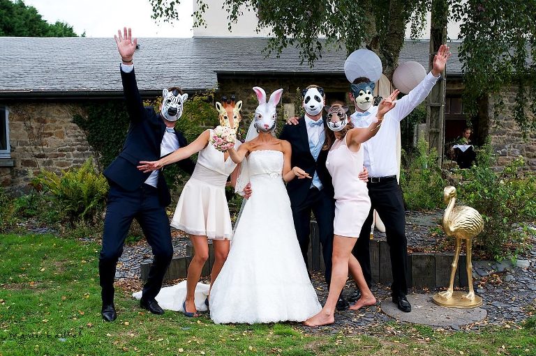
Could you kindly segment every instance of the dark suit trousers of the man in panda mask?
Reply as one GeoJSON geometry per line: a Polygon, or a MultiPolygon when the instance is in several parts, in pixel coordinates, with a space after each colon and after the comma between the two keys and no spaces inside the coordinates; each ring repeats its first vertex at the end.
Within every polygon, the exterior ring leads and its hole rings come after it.
{"type": "Polygon", "coordinates": [[[292,218],[294,219],[296,235],[307,267],[307,251],[309,249],[309,235],[311,235],[311,211],[318,223],[322,256],[326,265],[325,279],[329,288],[332,280],[333,220],[335,218],[335,201],[333,197],[326,194],[324,189],[319,191],[313,187],[309,189],[307,197],[301,206],[292,206],[292,218]]]}

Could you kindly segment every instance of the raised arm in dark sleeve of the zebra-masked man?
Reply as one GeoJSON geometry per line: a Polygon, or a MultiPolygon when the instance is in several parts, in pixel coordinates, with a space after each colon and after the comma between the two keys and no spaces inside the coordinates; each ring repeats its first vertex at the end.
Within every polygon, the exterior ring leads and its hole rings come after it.
{"type": "Polygon", "coordinates": [[[121,56],[121,81],[123,82],[123,91],[126,100],[126,109],[131,121],[141,121],[143,118],[143,102],[138,91],[136,76],[134,74],[134,52],[136,50],[137,38],[132,38],[132,29],[123,29],[117,31],[117,36],[114,36],[117,43],[117,50],[121,56]]]}

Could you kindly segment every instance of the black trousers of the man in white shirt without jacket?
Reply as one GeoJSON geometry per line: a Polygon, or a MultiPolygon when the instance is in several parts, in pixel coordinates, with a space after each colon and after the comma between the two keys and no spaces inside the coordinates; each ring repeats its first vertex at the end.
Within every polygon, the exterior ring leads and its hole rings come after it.
{"type": "MultiPolygon", "coordinates": [[[[392,295],[399,297],[408,294],[408,283],[405,279],[408,269],[408,242],[405,239],[405,209],[402,191],[396,180],[381,183],[368,183],[368,196],[371,198],[371,211],[366,218],[359,238],[352,251],[359,261],[368,286],[371,285],[371,258],[368,251],[370,241],[373,210],[385,224],[385,235],[389,245],[393,273],[392,295]]],[[[380,266],[382,268],[382,266],[380,266]]]]}

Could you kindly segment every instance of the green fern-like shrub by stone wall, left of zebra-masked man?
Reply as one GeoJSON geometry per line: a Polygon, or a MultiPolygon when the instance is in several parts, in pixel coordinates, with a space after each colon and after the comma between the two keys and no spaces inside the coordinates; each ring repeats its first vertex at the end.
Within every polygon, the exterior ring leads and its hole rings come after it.
{"type": "Polygon", "coordinates": [[[61,221],[93,224],[97,214],[103,211],[108,184],[96,171],[91,158],[82,167],[60,174],[41,171],[37,180],[61,221]]]}

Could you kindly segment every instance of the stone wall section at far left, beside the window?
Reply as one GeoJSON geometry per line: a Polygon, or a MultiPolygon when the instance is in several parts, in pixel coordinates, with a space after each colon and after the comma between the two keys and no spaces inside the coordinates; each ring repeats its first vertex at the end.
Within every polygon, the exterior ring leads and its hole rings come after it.
{"type": "Polygon", "coordinates": [[[40,169],[59,172],[93,155],[84,132],[72,122],[74,114],[82,114],[81,102],[15,102],[6,107],[13,164],[3,166],[13,167],[0,167],[0,185],[8,191],[27,192],[40,169]]]}

